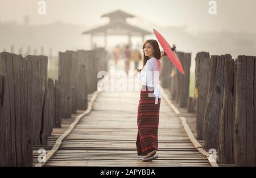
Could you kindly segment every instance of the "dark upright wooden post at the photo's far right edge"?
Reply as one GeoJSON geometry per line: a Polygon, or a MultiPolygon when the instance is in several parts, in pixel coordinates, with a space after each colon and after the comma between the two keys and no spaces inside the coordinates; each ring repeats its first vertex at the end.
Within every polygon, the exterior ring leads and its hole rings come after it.
{"type": "Polygon", "coordinates": [[[234,160],[238,166],[255,166],[256,156],[256,57],[238,56],[234,160]]]}

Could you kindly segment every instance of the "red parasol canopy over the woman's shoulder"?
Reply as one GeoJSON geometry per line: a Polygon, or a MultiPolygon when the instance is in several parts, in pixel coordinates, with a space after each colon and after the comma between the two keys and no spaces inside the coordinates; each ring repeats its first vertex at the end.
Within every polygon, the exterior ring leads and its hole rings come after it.
{"type": "Polygon", "coordinates": [[[163,36],[155,30],[155,28],[153,29],[156,38],[158,39],[158,42],[160,43],[160,45],[162,46],[162,48],[164,49],[164,52],[166,53],[166,55],[169,57],[169,59],[172,61],[172,63],[174,63],[174,65],[176,66],[176,68],[183,74],[183,68],[182,65],[180,63],[179,58],[177,57],[176,53],[174,51],[172,51],[172,48],[170,46],[170,44],[167,42],[166,39],[163,38],[163,36]]]}

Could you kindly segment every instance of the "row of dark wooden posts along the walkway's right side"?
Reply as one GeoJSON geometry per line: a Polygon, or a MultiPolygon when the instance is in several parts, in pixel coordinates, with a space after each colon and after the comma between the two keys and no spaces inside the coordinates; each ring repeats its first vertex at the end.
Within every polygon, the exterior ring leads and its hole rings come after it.
{"type": "Polygon", "coordinates": [[[197,139],[204,140],[206,150],[217,150],[218,163],[255,166],[256,57],[238,56],[234,60],[228,54],[197,53],[192,100],[188,97],[191,56],[183,52],[177,56],[185,75],[167,63],[169,59],[163,59],[163,71],[170,70],[171,74],[162,76],[162,86],[170,89],[172,100],[180,107],[188,111],[195,107],[197,139]]]}

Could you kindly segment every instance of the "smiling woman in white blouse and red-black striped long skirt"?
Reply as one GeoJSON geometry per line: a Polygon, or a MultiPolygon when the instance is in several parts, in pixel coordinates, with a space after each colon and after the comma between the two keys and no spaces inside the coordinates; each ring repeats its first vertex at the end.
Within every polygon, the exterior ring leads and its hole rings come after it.
{"type": "Polygon", "coordinates": [[[158,158],[158,122],[160,97],[158,82],[161,71],[160,49],[156,40],[146,40],[143,44],[143,69],[134,72],[142,81],[138,106],[137,154],[146,155],[142,161],[158,158]]]}

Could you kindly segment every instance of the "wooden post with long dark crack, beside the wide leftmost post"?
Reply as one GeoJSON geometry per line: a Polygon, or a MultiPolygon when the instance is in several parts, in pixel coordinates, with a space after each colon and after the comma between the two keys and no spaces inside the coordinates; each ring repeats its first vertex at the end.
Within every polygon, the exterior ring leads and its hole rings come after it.
{"type": "Polygon", "coordinates": [[[32,114],[32,135],[34,145],[47,145],[46,114],[47,97],[47,56],[26,56],[28,69],[28,105],[32,114]]]}

